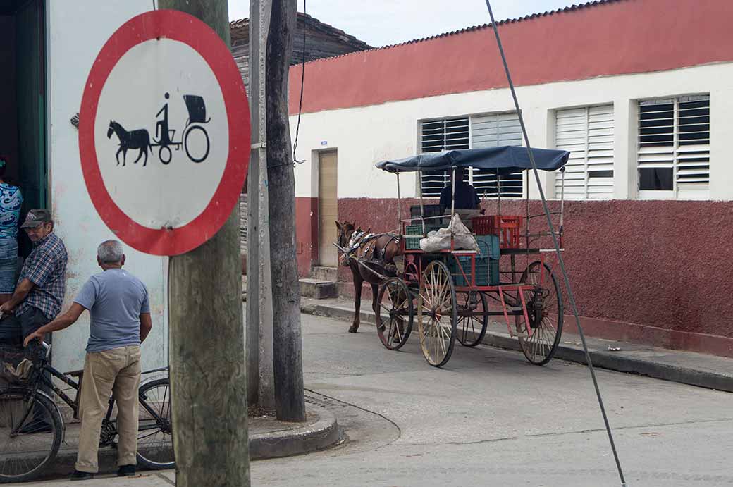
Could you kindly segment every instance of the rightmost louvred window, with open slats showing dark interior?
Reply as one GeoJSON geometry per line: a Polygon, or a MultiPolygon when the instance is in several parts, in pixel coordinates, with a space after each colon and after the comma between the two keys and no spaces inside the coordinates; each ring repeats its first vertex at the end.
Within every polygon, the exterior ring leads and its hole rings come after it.
{"type": "Polygon", "coordinates": [[[639,197],[707,198],[710,95],[638,102],[639,197]]]}

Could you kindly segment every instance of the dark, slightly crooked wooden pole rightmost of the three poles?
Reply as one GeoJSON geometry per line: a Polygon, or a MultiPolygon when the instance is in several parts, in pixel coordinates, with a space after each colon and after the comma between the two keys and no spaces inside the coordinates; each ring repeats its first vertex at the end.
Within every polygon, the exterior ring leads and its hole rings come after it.
{"type": "Polygon", "coordinates": [[[272,0],[265,69],[275,406],[282,421],[306,420],[301,290],[295,257],[295,175],[287,103],[297,9],[297,0],[272,0]]]}

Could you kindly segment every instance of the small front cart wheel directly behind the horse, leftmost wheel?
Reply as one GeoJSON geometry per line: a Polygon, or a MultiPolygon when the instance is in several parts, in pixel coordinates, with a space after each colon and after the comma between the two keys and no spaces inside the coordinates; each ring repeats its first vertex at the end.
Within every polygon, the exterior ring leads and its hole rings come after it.
{"type": "Polygon", "coordinates": [[[412,294],[402,279],[388,279],[379,290],[379,315],[377,334],[382,345],[390,350],[399,350],[405,345],[412,332],[412,294]]]}

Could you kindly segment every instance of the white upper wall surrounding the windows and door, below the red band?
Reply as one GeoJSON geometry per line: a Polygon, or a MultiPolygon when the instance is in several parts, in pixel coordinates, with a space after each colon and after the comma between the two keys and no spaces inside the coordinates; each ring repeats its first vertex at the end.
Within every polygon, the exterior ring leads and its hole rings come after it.
{"type": "MultiPolygon", "coordinates": [[[[710,93],[710,199],[733,199],[733,164],[727,155],[729,134],[733,133],[731,79],[733,63],[721,63],[519,87],[517,96],[530,142],[546,148],[554,146],[556,109],[613,103],[614,197],[635,199],[636,100],[710,93]]],[[[492,89],[303,114],[297,157],[306,159],[306,164],[296,166],[295,194],[318,196],[317,151],[337,149],[339,198],[397,197],[394,175],[376,169],[374,164],[416,154],[420,120],[513,110],[509,89],[492,89]]],[[[290,117],[293,135],[297,118],[290,117]]],[[[555,197],[553,177],[542,175],[548,197],[555,197]]],[[[418,194],[414,174],[402,175],[400,180],[403,197],[418,194]]],[[[539,196],[534,183],[528,191],[531,197],[539,196]]]]}

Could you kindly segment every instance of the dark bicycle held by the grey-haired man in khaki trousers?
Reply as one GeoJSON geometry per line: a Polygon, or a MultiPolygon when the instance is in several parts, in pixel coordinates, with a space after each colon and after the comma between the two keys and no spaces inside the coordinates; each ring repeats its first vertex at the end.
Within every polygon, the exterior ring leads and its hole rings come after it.
{"type": "MultiPolygon", "coordinates": [[[[0,348],[0,375],[10,386],[0,390],[0,483],[27,482],[41,475],[54,461],[64,441],[66,426],[53,393],[63,400],[78,419],[82,370],[61,373],[48,363],[51,345],[29,348],[0,348]],[[76,399],[51,380],[58,378],[75,389],[76,399]],[[76,378],[76,380],[75,380],[76,378]]],[[[168,367],[143,374],[163,372],[168,367]]],[[[69,389],[66,389],[69,390],[69,389]]],[[[172,418],[169,378],[143,382],[139,388],[139,433],[137,460],[148,469],[175,466],[172,447],[172,418]]],[[[117,421],[114,398],[102,422],[100,447],[114,447],[117,421]]]]}

